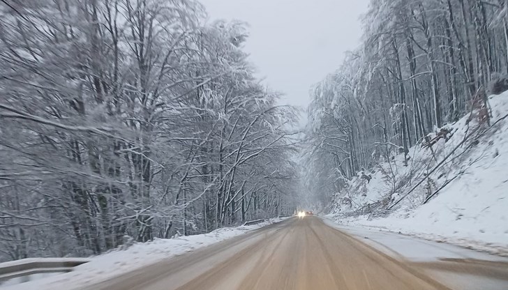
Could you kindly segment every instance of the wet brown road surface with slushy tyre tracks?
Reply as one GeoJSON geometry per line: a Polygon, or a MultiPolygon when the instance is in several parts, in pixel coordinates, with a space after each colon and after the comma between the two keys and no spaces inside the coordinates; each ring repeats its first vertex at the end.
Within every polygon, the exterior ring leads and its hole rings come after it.
{"type": "Polygon", "coordinates": [[[317,217],[292,217],[87,289],[463,289],[447,281],[446,273],[504,281],[500,289],[508,289],[508,264],[419,265],[375,250],[317,217]]]}

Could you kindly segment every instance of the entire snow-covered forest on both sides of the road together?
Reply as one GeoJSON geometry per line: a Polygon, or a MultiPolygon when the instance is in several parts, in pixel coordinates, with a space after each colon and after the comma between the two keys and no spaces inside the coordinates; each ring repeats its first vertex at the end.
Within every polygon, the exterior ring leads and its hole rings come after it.
{"type": "Polygon", "coordinates": [[[508,89],[508,0],[371,0],[304,134],[246,24],[198,1],[1,0],[0,17],[0,261],[331,205],[461,116],[488,123],[508,89]]]}

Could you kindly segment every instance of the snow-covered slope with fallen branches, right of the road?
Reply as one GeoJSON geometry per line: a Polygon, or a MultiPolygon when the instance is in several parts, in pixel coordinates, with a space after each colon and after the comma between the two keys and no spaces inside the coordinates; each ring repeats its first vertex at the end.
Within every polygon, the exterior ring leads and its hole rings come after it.
{"type": "Polygon", "coordinates": [[[432,150],[413,146],[407,167],[396,155],[359,173],[338,194],[331,215],[341,223],[508,253],[508,92],[488,103],[490,125],[473,112],[445,125],[447,140],[432,150]]]}

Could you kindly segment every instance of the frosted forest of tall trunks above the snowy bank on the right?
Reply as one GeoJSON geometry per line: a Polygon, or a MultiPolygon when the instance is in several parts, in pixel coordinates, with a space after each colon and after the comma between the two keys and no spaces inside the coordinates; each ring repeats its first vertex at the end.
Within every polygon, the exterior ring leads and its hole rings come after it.
{"type": "Polygon", "coordinates": [[[507,21],[506,0],[372,0],[358,49],[311,90],[308,191],[329,204],[473,109],[488,122],[486,96],[508,89],[507,21]]]}

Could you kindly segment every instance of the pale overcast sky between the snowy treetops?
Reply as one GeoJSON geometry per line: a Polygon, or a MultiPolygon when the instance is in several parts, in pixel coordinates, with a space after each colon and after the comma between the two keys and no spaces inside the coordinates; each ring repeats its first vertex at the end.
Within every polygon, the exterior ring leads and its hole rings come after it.
{"type": "Polygon", "coordinates": [[[306,107],[308,91],[356,48],[368,0],[201,0],[210,20],[250,25],[245,50],[283,103],[306,107]]]}

